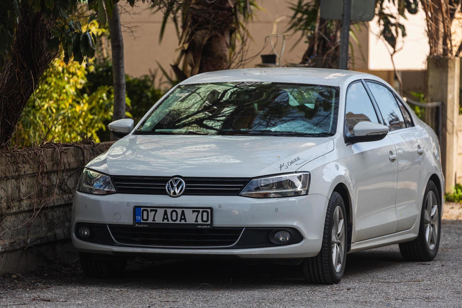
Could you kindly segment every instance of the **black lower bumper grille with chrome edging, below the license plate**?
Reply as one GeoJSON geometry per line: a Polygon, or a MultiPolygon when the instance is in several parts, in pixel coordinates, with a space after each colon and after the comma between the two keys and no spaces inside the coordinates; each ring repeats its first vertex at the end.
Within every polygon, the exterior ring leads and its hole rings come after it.
{"type": "Polygon", "coordinates": [[[237,242],[243,228],[139,228],[132,225],[109,225],[120,244],[162,247],[224,247],[237,242]]]}

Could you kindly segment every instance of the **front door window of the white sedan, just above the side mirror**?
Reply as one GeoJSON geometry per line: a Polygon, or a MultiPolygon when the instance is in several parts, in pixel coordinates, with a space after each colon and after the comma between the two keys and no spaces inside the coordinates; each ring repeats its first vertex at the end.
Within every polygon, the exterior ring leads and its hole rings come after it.
{"type": "Polygon", "coordinates": [[[353,127],[358,122],[378,123],[374,106],[361,82],[350,85],[346,92],[345,121],[351,135],[353,135],[353,127]]]}

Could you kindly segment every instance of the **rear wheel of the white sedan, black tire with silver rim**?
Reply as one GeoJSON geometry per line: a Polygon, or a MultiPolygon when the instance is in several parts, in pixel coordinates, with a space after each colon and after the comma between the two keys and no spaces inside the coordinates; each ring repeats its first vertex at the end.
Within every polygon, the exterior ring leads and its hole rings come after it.
{"type": "Polygon", "coordinates": [[[408,261],[431,261],[438,254],[440,237],[441,199],[435,183],[429,181],[420,212],[419,235],[413,241],[399,244],[401,255],[408,261]],[[427,232],[430,237],[427,237],[427,232]]]}

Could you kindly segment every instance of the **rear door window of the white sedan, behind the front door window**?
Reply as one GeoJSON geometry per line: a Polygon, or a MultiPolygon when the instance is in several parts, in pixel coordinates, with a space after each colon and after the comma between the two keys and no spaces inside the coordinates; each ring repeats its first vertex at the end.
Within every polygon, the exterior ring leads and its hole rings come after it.
{"type": "Polygon", "coordinates": [[[371,89],[372,95],[382,113],[384,124],[389,127],[390,132],[406,128],[406,122],[404,122],[400,107],[396,103],[393,93],[376,82],[367,82],[367,85],[371,89]]]}

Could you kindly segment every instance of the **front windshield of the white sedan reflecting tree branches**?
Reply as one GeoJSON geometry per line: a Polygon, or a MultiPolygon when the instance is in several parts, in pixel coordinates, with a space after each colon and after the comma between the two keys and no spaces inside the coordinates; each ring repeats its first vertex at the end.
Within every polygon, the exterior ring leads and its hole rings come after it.
{"type": "Polygon", "coordinates": [[[338,104],[338,88],[324,85],[179,85],[135,133],[331,136],[336,130],[338,104]]]}

